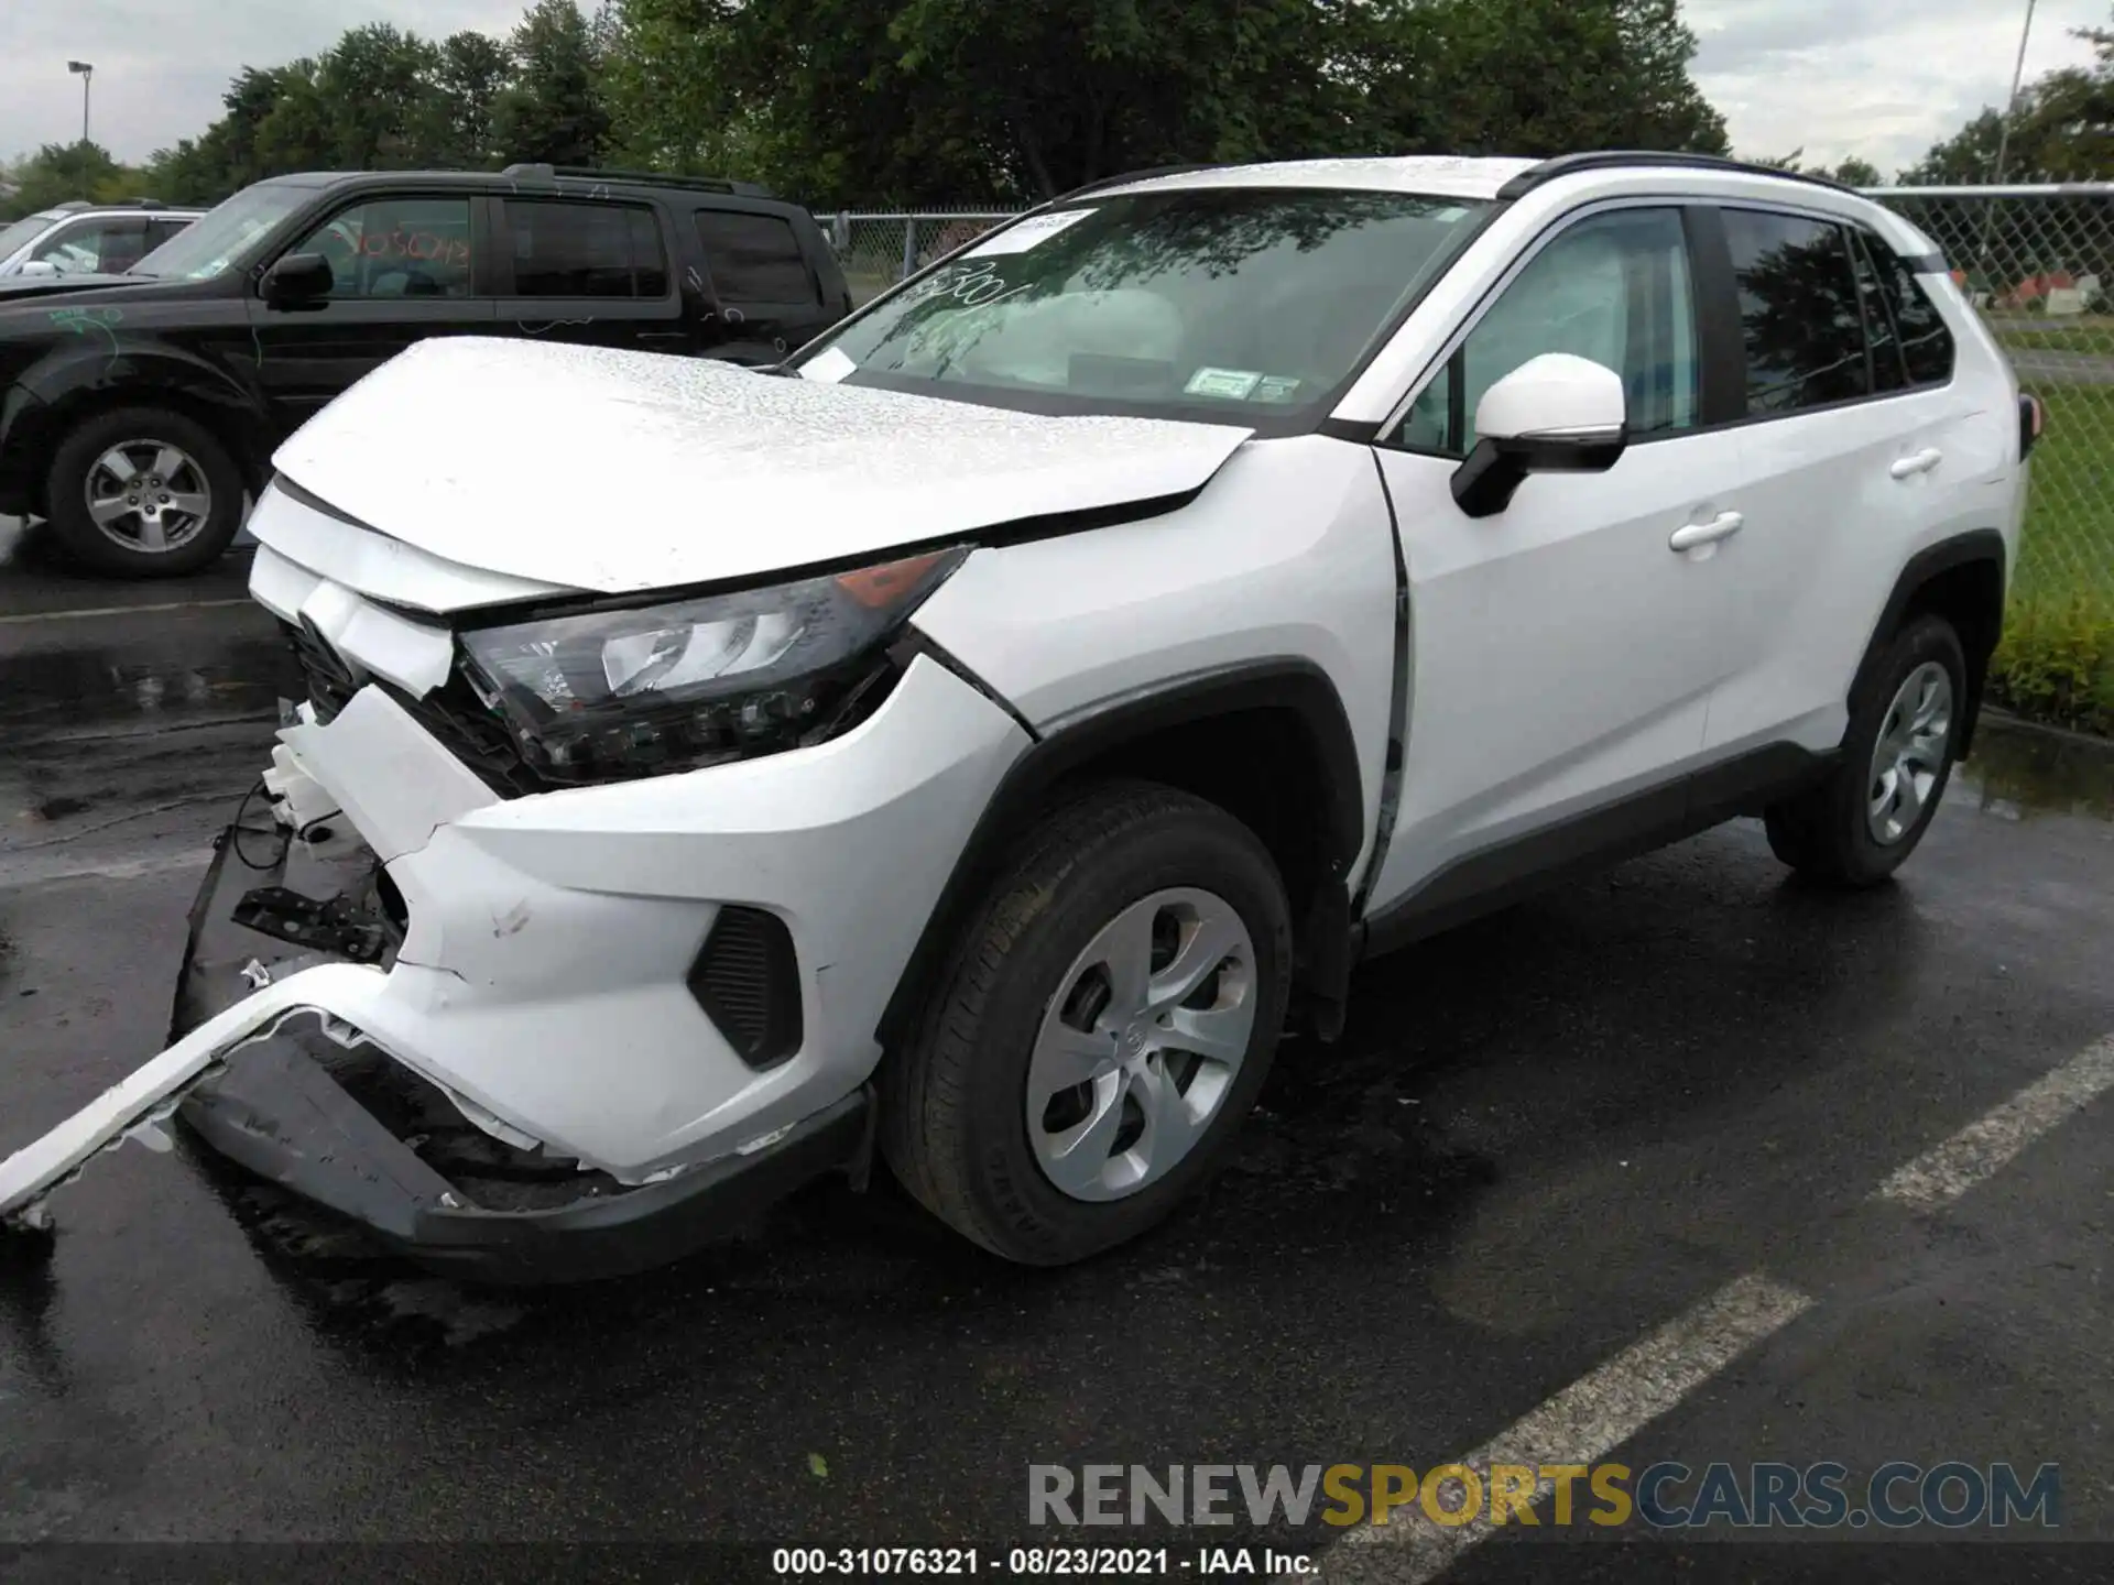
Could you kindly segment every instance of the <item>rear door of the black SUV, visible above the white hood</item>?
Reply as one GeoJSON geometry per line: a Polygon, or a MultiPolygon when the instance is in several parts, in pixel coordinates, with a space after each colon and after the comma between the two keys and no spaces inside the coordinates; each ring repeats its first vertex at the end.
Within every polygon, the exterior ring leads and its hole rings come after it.
{"type": "Polygon", "coordinates": [[[691,347],[651,203],[507,197],[499,235],[501,334],[647,353],[691,347]]]}

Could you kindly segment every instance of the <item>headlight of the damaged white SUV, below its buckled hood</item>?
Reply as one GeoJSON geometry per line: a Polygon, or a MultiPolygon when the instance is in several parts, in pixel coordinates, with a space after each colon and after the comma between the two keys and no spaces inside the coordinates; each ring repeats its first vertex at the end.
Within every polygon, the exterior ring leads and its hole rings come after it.
{"type": "Polygon", "coordinates": [[[962,549],[638,611],[461,636],[469,685],[554,782],[717,765],[841,731],[875,702],[875,653],[962,549]]]}

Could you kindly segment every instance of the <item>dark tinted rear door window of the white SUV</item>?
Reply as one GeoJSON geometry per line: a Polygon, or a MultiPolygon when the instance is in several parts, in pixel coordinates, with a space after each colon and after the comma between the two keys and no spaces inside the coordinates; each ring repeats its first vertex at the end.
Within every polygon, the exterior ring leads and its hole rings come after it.
{"type": "Polygon", "coordinates": [[[1841,226],[1725,209],[1740,283],[1748,416],[1871,395],[1865,315],[1841,226]]]}

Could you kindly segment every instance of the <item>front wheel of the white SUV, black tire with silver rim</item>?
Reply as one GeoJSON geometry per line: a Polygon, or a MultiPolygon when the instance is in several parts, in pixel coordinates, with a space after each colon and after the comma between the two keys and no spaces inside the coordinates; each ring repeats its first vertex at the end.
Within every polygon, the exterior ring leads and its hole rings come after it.
{"type": "Polygon", "coordinates": [[[1290,983],[1285,888],[1247,826],[1156,784],[1091,788],[1025,833],[956,940],[909,1040],[884,1061],[879,1139],[888,1164],[928,1211],[1006,1260],[1063,1266],[1135,1238],[1203,1181],[1239,1131],[1268,1074],[1290,983]],[[1127,997],[1110,968],[1129,955],[1106,949],[1106,964],[1080,972],[1084,955],[1104,951],[1108,932],[1127,921],[1144,921],[1144,936],[1120,940],[1150,943],[1137,981],[1146,1010],[1135,1019],[1118,1017],[1127,997]],[[1216,957],[1222,940],[1237,945],[1216,957]],[[1184,966],[1216,968],[1182,1006],[1154,1014],[1150,993],[1184,978],[1163,959],[1169,943],[1190,951],[1184,966]],[[1106,991],[1099,1002],[1097,991],[1106,991]],[[1224,1025],[1228,1010],[1235,1023],[1220,1036],[1232,1033],[1241,1048],[1232,1063],[1156,1048],[1163,1038],[1197,1038],[1199,1012],[1224,1025]],[[1247,1010],[1243,1042],[1237,1021],[1247,1010]],[[1038,1040],[1059,1019],[1074,1029],[1108,1025],[1106,1036],[1080,1040],[1089,1052],[1106,1050],[1112,1071],[1055,1093],[1055,1110],[1032,1118],[1032,1082],[1063,1071],[1038,1065],[1038,1050],[1049,1050],[1038,1040]],[[1175,1019],[1180,1029],[1169,1023],[1175,1019]],[[1129,1033],[1139,1040],[1127,1044],[1129,1033]],[[1104,1038],[1106,1048],[1091,1044],[1104,1038]],[[1150,1139],[1127,1135],[1131,1107],[1144,1118],[1144,1101],[1152,1118],[1171,1120],[1152,1122],[1150,1139]],[[1080,1107],[1070,1126],[1061,1105],[1080,1107]],[[1097,1143],[1099,1124],[1110,1129],[1106,1145],[1097,1143]],[[1104,1192],[1101,1177],[1150,1160],[1161,1143],[1169,1154],[1142,1186],[1080,1198],[1057,1186],[1059,1169],[1040,1154],[1074,1135],[1078,1154],[1063,1169],[1095,1173],[1089,1194],[1104,1192]],[[1186,1154],[1184,1141],[1194,1141],[1186,1154]],[[1108,1156],[1097,1158],[1097,1148],[1108,1156]]]}

